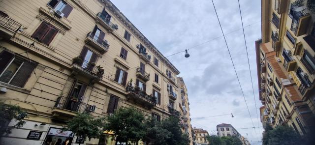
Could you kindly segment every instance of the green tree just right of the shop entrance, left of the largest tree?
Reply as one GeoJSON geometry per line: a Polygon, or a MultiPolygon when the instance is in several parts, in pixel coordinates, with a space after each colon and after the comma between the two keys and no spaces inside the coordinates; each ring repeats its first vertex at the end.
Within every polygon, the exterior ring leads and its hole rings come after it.
{"type": "Polygon", "coordinates": [[[78,137],[91,140],[91,138],[99,138],[104,121],[104,117],[95,118],[86,113],[77,113],[77,116],[67,122],[67,127],[63,130],[70,130],[78,137]]]}

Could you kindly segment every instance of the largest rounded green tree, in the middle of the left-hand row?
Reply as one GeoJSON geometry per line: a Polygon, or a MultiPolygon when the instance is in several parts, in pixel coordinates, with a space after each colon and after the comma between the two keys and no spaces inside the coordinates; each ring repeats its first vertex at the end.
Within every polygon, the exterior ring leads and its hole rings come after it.
{"type": "Polygon", "coordinates": [[[135,108],[120,108],[108,116],[104,129],[114,131],[120,142],[138,143],[146,133],[144,121],[143,114],[135,108]]]}

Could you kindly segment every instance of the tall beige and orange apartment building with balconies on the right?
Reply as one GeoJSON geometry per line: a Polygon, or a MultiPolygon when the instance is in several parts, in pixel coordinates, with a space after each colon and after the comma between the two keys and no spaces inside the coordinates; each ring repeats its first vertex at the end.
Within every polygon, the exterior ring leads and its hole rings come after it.
{"type": "Polygon", "coordinates": [[[261,0],[255,42],[263,125],[287,124],[302,136],[315,122],[315,15],[307,1],[261,0]]]}

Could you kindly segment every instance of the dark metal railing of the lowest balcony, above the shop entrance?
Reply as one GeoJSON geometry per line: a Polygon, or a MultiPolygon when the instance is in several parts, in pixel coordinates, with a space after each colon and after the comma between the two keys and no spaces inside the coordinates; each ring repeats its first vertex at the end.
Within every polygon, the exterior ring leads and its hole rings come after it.
{"type": "Polygon", "coordinates": [[[71,99],[68,97],[59,97],[57,98],[55,108],[62,108],[66,110],[70,110],[73,112],[82,112],[88,113],[90,112],[91,105],[81,102],[78,99],[71,99]]]}

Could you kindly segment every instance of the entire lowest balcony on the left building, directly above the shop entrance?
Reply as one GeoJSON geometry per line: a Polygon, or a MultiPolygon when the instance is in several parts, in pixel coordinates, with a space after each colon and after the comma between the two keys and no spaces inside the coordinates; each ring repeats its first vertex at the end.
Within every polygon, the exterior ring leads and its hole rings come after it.
{"type": "Polygon", "coordinates": [[[59,97],[57,98],[52,113],[54,116],[75,116],[76,112],[89,113],[90,109],[91,105],[82,103],[77,99],[59,97]]]}

